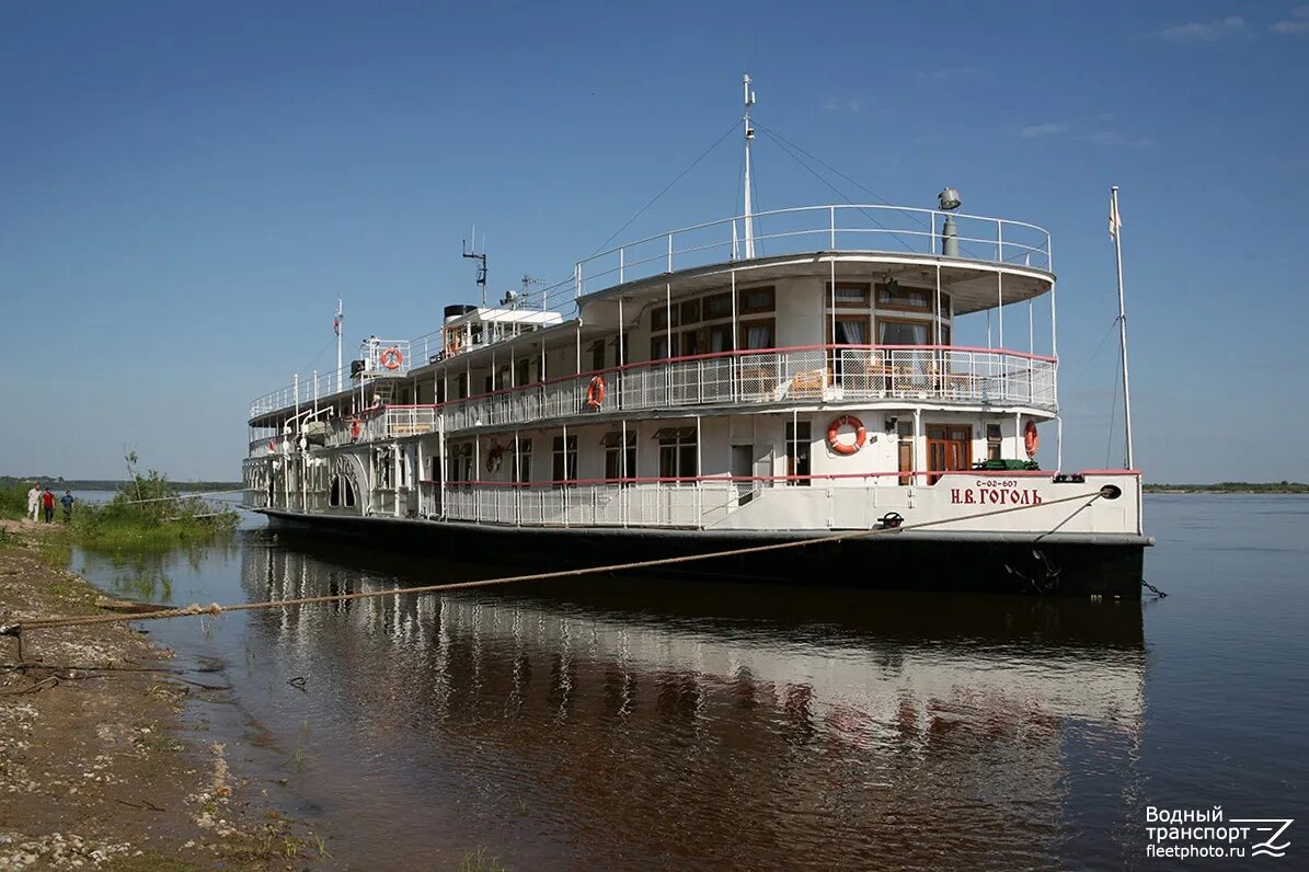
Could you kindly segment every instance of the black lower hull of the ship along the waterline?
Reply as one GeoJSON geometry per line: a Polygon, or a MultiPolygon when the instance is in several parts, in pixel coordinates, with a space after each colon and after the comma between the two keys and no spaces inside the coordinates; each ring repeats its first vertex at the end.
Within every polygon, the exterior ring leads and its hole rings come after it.
{"type": "MultiPolygon", "coordinates": [[[[754,580],[835,588],[967,590],[1033,596],[1140,598],[1143,536],[877,532],[833,541],[833,533],[516,528],[406,518],[325,516],[264,509],[292,536],[348,538],[459,563],[528,567],[531,572],[627,567],[643,575],[754,580]],[[720,554],[654,567],[630,564],[720,554]]],[[[618,570],[615,570],[618,571],[618,570]]],[[[509,575],[511,572],[505,572],[509,575]]]]}

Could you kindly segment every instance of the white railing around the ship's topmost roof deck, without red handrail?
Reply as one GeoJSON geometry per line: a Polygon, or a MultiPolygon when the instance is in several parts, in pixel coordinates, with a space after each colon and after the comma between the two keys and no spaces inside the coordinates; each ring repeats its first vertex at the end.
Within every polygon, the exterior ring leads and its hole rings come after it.
{"type": "MultiPolygon", "coordinates": [[[[902,206],[842,203],[755,212],[754,249],[757,257],[819,250],[935,255],[942,253],[946,216],[956,225],[954,238],[963,259],[1054,268],[1050,233],[1034,224],[902,206]]],[[[517,305],[572,316],[577,297],[585,293],[674,270],[738,261],[745,250],[744,221],[744,216],[736,216],[695,224],[601,251],[577,261],[567,279],[529,291],[517,305]]],[[[401,350],[403,356],[397,371],[374,367],[380,361],[369,354],[365,355],[370,359],[369,368],[361,380],[352,381],[348,371],[302,374],[297,382],[251,402],[250,416],[291,409],[339,389],[363,388],[381,374],[403,374],[411,367],[439,360],[444,352],[440,329],[408,340],[376,340],[378,354],[390,347],[401,350]]]]}

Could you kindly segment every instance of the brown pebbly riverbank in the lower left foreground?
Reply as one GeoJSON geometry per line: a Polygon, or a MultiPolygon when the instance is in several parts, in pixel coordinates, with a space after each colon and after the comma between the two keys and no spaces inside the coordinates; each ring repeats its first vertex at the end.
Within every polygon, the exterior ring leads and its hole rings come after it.
{"type": "MultiPolygon", "coordinates": [[[[55,528],[0,521],[0,623],[94,614],[55,528]]],[[[318,837],[186,735],[188,694],[221,678],[170,664],[127,623],[0,639],[0,869],[321,865],[318,837]]]]}

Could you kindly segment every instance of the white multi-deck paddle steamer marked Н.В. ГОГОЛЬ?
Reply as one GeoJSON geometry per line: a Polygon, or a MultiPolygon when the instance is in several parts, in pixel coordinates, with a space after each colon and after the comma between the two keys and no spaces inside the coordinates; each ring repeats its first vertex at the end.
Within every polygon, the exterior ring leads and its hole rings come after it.
{"type": "Polygon", "coordinates": [[[675,568],[1139,596],[1139,471],[1062,469],[1050,234],[961,213],[950,189],[936,209],[754,212],[750,103],[747,84],[742,215],[499,305],[474,255],[483,305],[254,401],[246,504],[465,559],[808,539],[675,568]],[[953,342],[969,319],[984,347],[953,342]],[[834,538],[861,530],[888,532],[834,538]]]}

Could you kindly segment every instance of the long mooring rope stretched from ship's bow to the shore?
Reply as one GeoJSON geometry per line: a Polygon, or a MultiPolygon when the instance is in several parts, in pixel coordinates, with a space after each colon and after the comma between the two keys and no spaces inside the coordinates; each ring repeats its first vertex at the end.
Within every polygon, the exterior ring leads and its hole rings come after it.
{"type": "MultiPolygon", "coordinates": [[[[593,575],[597,572],[624,572],[628,570],[645,570],[660,566],[673,566],[677,563],[691,563],[694,560],[709,560],[715,558],[729,558],[740,556],[744,554],[762,554],[764,551],[780,551],[783,549],[796,549],[808,545],[822,545],[825,542],[840,542],[844,539],[856,539],[861,537],[878,536],[878,534],[894,534],[903,533],[906,530],[920,530],[927,526],[940,526],[942,524],[957,524],[959,521],[974,521],[983,517],[995,517],[996,515],[1008,515],[1009,512],[1021,512],[1030,508],[1041,508],[1046,505],[1058,505],[1060,503],[1072,503],[1075,500],[1086,500],[1086,505],[1090,505],[1101,496],[1105,496],[1109,488],[1101,488],[1098,491],[1092,491],[1089,494],[1077,494],[1076,496],[1063,496],[1056,500],[1046,500],[1043,503],[1031,503],[1026,505],[1011,505],[1003,509],[995,509],[992,512],[977,512],[974,515],[962,515],[950,518],[937,518],[935,521],[919,521],[918,524],[903,524],[901,526],[888,526],[877,528],[872,530],[851,530],[848,533],[834,533],[831,536],[816,537],[812,539],[797,539],[791,542],[770,542],[767,545],[751,545],[740,549],[729,549],[725,551],[709,551],[707,554],[683,554],[670,558],[656,558],[652,560],[632,560],[630,563],[610,563],[606,566],[593,566],[584,567],[579,570],[558,570],[554,572],[533,572],[529,575],[511,575],[499,579],[478,579],[473,581],[450,581],[445,584],[428,584],[415,588],[387,588],[385,590],[359,590],[355,593],[336,593],[319,597],[300,597],[295,600],[268,600],[262,602],[237,602],[233,605],[219,605],[212,602],[207,606],[192,602],[188,606],[179,609],[160,609],[158,611],[143,611],[140,614],[94,614],[94,615],[68,615],[58,618],[33,618],[30,621],[22,621],[8,627],[0,627],[0,634],[7,632],[7,635],[17,635],[25,630],[52,630],[55,627],[81,627],[97,623],[128,623],[132,621],[160,621],[164,618],[185,618],[187,615],[207,614],[217,617],[225,611],[255,611],[260,609],[281,609],[285,606],[298,606],[298,605],[317,605],[322,602],[346,602],[350,600],[367,600],[370,597],[390,597],[397,594],[419,594],[419,593],[440,593],[445,590],[465,590],[469,588],[487,588],[500,584],[514,584],[521,581],[545,581],[547,579],[563,579],[575,577],[583,575],[593,575]],[[1088,499],[1089,498],[1089,499],[1088,499]]],[[[1085,505],[1083,507],[1085,508],[1085,505]]],[[[1079,512],[1081,509],[1077,509],[1079,512]]]]}

